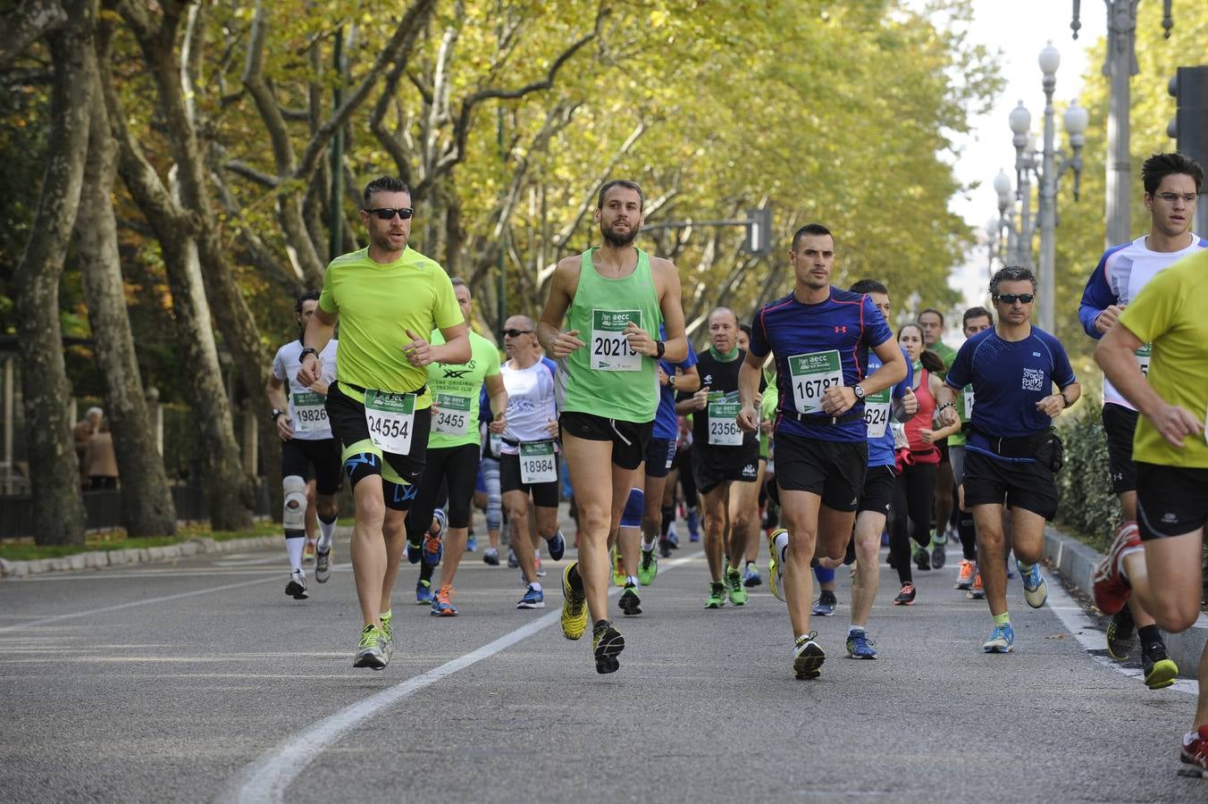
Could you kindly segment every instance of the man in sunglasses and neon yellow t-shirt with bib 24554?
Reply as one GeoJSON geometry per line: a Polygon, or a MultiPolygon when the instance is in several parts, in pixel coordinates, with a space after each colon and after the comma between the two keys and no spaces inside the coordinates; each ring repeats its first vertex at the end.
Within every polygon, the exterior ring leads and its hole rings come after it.
{"type": "Polygon", "coordinates": [[[364,198],[360,217],[370,245],[327,266],[319,308],[302,337],[298,381],[309,385],[319,375],[318,353],[338,320],[336,381],[326,407],[356,503],[353,577],[365,627],[353,666],[382,670],[393,649],[390,589],[406,541],[403,519],[428,450],[428,366],[464,363],[471,351],[448,274],[407,245],[413,212],[407,185],[376,179],[364,198]],[[432,330],[441,331],[443,344],[424,339],[432,330]]]}

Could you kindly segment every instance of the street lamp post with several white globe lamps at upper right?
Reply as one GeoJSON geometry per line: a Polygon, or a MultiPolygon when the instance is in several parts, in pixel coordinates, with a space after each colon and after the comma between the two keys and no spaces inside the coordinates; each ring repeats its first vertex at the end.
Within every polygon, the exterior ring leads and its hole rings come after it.
{"type": "MultiPolygon", "coordinates": [[[[1040,221],[1040,327],[1049,332],[1053,330],[1053,308],[1056,307],[1056,262],[1057,262],[1057,186],[1061,175],[1067,169],[1074,171],[1074,199],[1078,200],[1079,185],[1082,175],[1082,145],[1086,142],[1086,110],[1070,101],[1065,110],[1063,122],[1073,155],[1069,159],[1064,153],[1055,151],[1056,126],[1053,122],[1053,91],[1057,88],[1057,68],[1061,66],[1061,54],[1057,48],[1049,42],[1038,58],[1040,71],[1044,74],[1043,88],[1045,92],[1045,129],[1041,144],[1040,164],[1036,164],[1036,152],[1030,138],[1032,113],[1020,101],[1020,105],[1011,110],[1007,122],[1015,134],[1015,170],[1016,170],[1016,197],[1020,205],[1020,228],[1016,238],[1016,249],[1012,258],[1016,264],[1028,264],[1032,262],[1032,238],[1034,225],[1032,221],[1032,174],[1035,174],[1040,185],[1039,208],[1036,217],[1040,221]]],[[[999,192],[999,210],[1005,209],[1003,204],[1003,187],[1010,192],[1010,180],[1005,174],[1000,174],[994,180],[994,188],[999,192]]],[[[1012,226],[1014,228],[1014,226],[1012,226]]],[[[1009,228],[1010,232],[1010,228],[1009,228]]]]}

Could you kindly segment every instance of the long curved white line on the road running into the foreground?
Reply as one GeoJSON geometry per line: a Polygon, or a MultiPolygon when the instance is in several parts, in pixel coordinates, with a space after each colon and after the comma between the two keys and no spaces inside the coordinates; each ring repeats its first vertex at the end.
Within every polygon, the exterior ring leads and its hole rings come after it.
{"type": "MultiPolygon", "coordinates": [[[[660,566],[660,572],[687,564],[692,559],[699,558],[703,553],[693,553],[684,558],[667,561],[660,566]]],[[[617,592],[616,587],[609,590],[609,595],[617,592]]],[[[500,651],[536,634],[552,625],[562,616],[559,611],[542,614],[539,619],[528,625],[517,628],[515,631],[500,636],[493,642],[488,642],[476,651],[458,657],[452,662],[429,670],[422,675],[407,678],[406,681],[383,689],[355,704],[345,706],[335,715],[326,717],[300,734],[289,738],[269,753],[265,755],[249,765],[236,779],[233,790],[223,794],[219,800],[234,800],[240,804],[273,803],[284,800],[290,782],[297,777],[314,761],[324,748],[333,745],[336,740],[358,724],[372,717],[376,712],[387,706],[399,703],[403,698],[419,692],[424,687],[446,678],[458,670],[464,670],[483,659],[489,659],[500,651]]]]}

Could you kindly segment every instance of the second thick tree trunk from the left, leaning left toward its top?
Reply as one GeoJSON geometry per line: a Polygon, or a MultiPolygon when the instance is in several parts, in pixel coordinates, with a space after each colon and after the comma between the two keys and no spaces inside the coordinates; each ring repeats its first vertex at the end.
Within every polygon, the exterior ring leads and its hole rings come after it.
{"type": "MultiPolygon", "coordinates": [[[[100,56],[105,57],[108,53],[100,56]]],[[[156,449],[126,313],[126,285],[112,204],[117,146],[109,129],[97,58],[95,51],[86,52],[85,72],[76,76],[77,81],[91,82],[93,91],[88,158],[80,194],[80,204],[88,215],[76,220],[75,244],[83,274],[88,322],[105,377],[105,407],[121,474],[122,520],[130,536],[164,536],[176,532],[176,508],[156,449]]]]}

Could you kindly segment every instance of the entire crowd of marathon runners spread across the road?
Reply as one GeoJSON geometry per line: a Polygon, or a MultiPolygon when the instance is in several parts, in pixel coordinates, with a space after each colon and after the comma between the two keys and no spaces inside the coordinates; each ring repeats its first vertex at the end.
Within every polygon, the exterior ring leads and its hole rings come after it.
{"type": "MultiPolygon", "coordinates": [[[[1151,688],[1178,675],[1158,629],[1183,630],[1200,613],[1208,240],[1190,227],[1202,180],[1178,153],[1145,162],[1150,231],[1104,252],[1078,310],[1100,339],[1107,471],[1123,520],[1094,598],[1113,614],[1111,654],[1127,658],[1138,637],[1151,688]]],[[[486,514],[482,560],[500,565],[506,536],[516,607],[544,608],[541,559],[561,561],[568,548],[558,511],[569,491],[577,550],[559,565],[562,631],[580,640],[591,628],[600,674],[620,668],[626,647],[609,585],[621,587],[625,617],[656,606],[646,588],[679,547],[676,512],[702,542],[705,608],[749,602],[767,543],[797,678],[821,672],[811,618],[835,614],[841,567],[852,575],[846,654],[878,658],[885,544],[900,584],[893,602],[910,606],[913,573],[942,571],[958,540],[952,594],[988,604],[982,651],[1011,652],[1007,583],[1017,573],[1027,604],[1045,604],[1044,525],[1063,450],[1052,423],[1081,396],[1062,343],[1032,324],[1033,273],[998,270],[989,305],[964,311],[953,350],[941,311],[908,322],[894,313],[892,298],[912,289],[876,276],[834,286],[836,238],[808,223],[788,244],[794,290],[753,314],[713,309],[697,353],[675,266],[635,245],[643,206],[632,181],[599,190],[600,245],[558,262],[540,316],[504,322],[501,355],[467,326],[470,287],[410,247],[407,186],[365,187],[368,246],[333,260],[321,292],[297,301],[298,338],[273,362],[286,594],[314,592],[308,549],[313,579],[330,579],[347,476],[362,617],[353,664],[382,670],[400,569],[418,565],[416,601],[432,616],[458,616],[458,566],[477,553],[475,507],[486,514]]],[[[1201,682],[1206,674],[1208,657],[1201,682]]],[[[1192,726],[1183,767],[1208,775],[1203,697],[1192,726]]]]}

